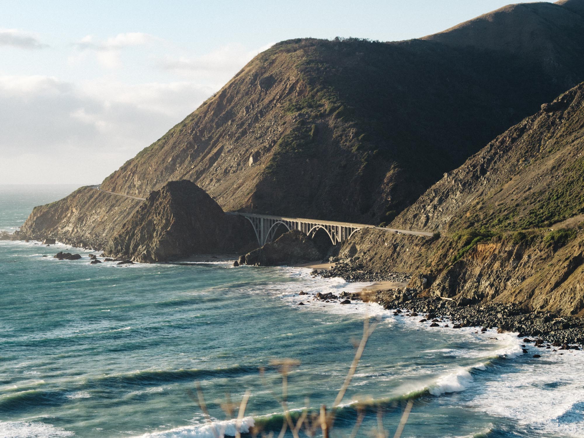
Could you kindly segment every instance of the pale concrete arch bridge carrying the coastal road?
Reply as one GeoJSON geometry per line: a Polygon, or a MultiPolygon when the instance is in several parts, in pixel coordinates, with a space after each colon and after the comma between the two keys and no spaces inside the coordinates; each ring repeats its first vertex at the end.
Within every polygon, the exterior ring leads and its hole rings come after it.
{"type": "Polygon", "coordinates": [[[413,234],[419,236],[432,237],[431,232],[394,230],[393,228],[380,228],[374,225],[352,224],[348,222],[321,221],[317,219],[304,219],[299,217],[283,217],[268,214],[239,213],[238,211],[226,211],[227,214],[237,214],[245,217],[253,226],[258,244],[265,245],[272,242],[280,225],[287,228],[288,231],[298,230],[308,237],[314,237],[318,230],[324,230],[333,245],[349,239],[354,232],[363,228],[377,228],[388,232],[398,232],[401,234],[413,234]]]}

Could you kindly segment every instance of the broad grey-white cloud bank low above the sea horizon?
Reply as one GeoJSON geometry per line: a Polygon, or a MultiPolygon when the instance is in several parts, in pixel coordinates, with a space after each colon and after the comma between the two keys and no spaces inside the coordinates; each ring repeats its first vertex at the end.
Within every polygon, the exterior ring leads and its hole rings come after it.
{"type": "Polygon", "coordinates": [[[211,92],[192,82],[76,86],[0,76],[0,183],[99,182],[211,92]],[[43,163],[61,165],[53,173],[34,171],[43,163]]]}

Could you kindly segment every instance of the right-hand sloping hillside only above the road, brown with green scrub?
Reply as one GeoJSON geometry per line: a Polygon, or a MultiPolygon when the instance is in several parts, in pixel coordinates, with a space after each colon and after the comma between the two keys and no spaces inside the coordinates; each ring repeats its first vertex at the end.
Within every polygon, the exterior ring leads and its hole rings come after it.
{"type": "Polygon", "coordinates": [[[584,214],[584,84],[490,142],[392,223],[432,231],[553,227],[584,214]]]}

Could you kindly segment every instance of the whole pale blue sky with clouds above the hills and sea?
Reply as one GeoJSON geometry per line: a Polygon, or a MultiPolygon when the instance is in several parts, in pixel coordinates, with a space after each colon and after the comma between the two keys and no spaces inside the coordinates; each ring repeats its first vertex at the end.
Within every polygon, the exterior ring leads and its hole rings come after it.
{"type": "Polygon", "coordinates": [[[277,41],[412,39],[505,0],[2,0],[0,184],[99,183],[277,41]]]}

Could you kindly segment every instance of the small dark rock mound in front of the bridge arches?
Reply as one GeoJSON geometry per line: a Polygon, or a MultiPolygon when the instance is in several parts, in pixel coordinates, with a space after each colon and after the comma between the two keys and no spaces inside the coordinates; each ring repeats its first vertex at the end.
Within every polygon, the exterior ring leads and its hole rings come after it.
{"type": "Polygon", "coordinates": [[[312,240],[298,230],[288,231],[271,243],[245,255],[246,265],[279,266],[322,259],[312,240]]]}

